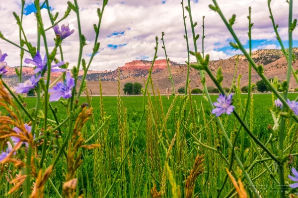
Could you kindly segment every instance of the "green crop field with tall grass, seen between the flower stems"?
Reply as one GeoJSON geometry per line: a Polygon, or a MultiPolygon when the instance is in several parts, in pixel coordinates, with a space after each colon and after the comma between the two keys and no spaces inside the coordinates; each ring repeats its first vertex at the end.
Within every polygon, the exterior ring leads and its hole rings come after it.
{"type": "MultiPolygon", "coordinates": [[[[247,95],[241,95],[242,101],[244,101],[246,97],[247,95]]],[[[289,99],[295,99],[296,97],[297,97],[297,94],[289,95],[289,99]]],[[[211,99],[213,101],[215,101],[217,98],[218,98],[217,95],[211,96],[211,99]]],[[[83,136],[85,137],[85,139],[87,139],[92,135],[91,125],[94,125],[94,128],[97,129],[100,125],[99,123],[102,123],[100,120],[100,117],[101,117],[100,116],[100,98],[91,97],[90,99],[91,99],[91,106],[93,108],[94,121],[89,120],[86,125],[86,129],[82,131],[82,133],[84,133],[83,136]]],[[[163,111],[164,113],[167,113],[169,106],[172,103],[174,97],[172,96],[168,100],[164,96],[162,96],[161,99],[164,107],[163,111]]],[[[193,104],[197,104],[198,109],[200,109],[199,104],[201,103],[202,96],[192,96],[192,99],[193,99],[193,104]]],[[[259,137],[259,139],[264,143],[266,140],[268,140],[270,135],[270,132],[268,131],[268,126],[269,125],[272,126],[274,124],[271,114],[269,112],[269,109],[272,108],[273,106],[272,95],[254,94],[253,99],[254,99],[253,114],[250,116],[251,112],[250,111],[248,112],[249,116],[247,116],[248,118],[247,122],[250,123],[250,118],[253,118],[253,122],[252,122],[253,133],[257,137],[259,137]]],[[[153,188],[153,185],[152,185],[153,183],[157,185],[158,190],[162,190],[162,186],[160,185],[162,181],[160,180],[163,179],[163,176],[158,174],[162,173],[163,171],[158,169],[162,168],[162,166],[164,165],[163,161],[165,158],[167,146],[159,143],[159,146],[158,146],[159,148],[157,148],[157,150],[160,150],[161,154],[160,155],[158,154],[156,156],[157,153],[150,153],[150,149],[152,149],[151,148],[152,145],[150,145],[150,140],[148,137],[149,136],[148,118],[146,119],[146,121],[142,123],[139,134],[133,134],[133,132],[136,131],[140,117],[142,115],[143,97],[121,97],[121,100],[123,101],[124,107],[126,109],[126,110],[124,109],[123,110],[126,111],[125,117],[126,117],[126,123],[127,123],[127,128],[126,128],[127,131],[121,132],[121,129],[123,128],[118,125],[119,122],[118,122],[118,110],[117,110],[117,106],[118,106],[117,97],[103,97],[104,110],[106,111],[107,116],[111,115],[110,123],[108,125],[108,129],[106,128],[105,130],[100,131],[98,133],[99,137],[96,137],[94,140],[92,140],[93,144],[100,143],[102,144],[103,147],[101,149],[83,151],[83,155],[82,155],[83,163],[82,163],[82,166],[76,172],[76,175],[77,175],[76,177],[78,179],[77,192],[79,195],[84,194],[86,195],[87,198],[103,197],[103,195],[105,195],[117,171],[117,166],[119,165],[119,162],[120,162],[119,157],[123,156],[122,152],[127,149],[127,147],[129,146],[129,142],[132,140],[133,136],[136,136],[134,148],[129,153],[128,160],[127,162],[125,162],[123,169],[121,171],[121,174],[116,182],[115,188],[112,190],[112,193],[109,194],[109,198],[134,197],[133,195],[137,195],[137,197],[148,197],[150,194],[150,189],[153,188]],[[124,147],[125,149],[123,150],[122,147],[124,147]],[[162,154],[163,152],[162,150],[164,150],[163,154],[162,154]],[[154,159],[151,159],[150,158],[151,156],[154,159]],[[158,158],[161,158],[161,159],[158,159],[158,158]],[[159,164],[159,163],[162,163],[162,164],[159,164]],[[123,195],[120,195],[120,194],[123,194],[123,195]]],[[[151,100],[154,101],[154,97],[151,97],[151,100]]],[[[26,103],[28,108],[34,107],[35,101],[36,101],[35,98],[27,98],[26,103]]],[[[81,98],[81,102],[84,102],[84,101],[87,102],[87,99],[81,98]]],[[[176,103],[180,104],[180,99],[178,99],[176,103]]],[[[59,116],[67,115],[67,110],[66,110],[67,108],[63,106],[60,102],[54,102],[52,104],[54,107],[57,107],[58,109],[57,114],[59,116]]],[[[214,147],[220,146],[223,154],[225,156],[228,156],[228,149],[226,149],[227,148],[226,143],[224,141],[222,142],[222,144],[220,142],[217,142],[218,141],[217,139],[219,138],[221,140],[222,137],[215,137],[217,136],[216,133],[214,133],[217,131],[217,129],[214,128],[216,127],[216,124],[214,123],[214,119],[210,118],[210,109],[206,99],[203,99],[203,107],[204,108],[202,109],[204,109],[204,112],[205,112],[204,115],[206,116],[204,121],[207,122],[207,124],[203,122],[203,119],[202,119],[202,123],[198,124],[199,129],[202,129],[200,133],[201,135],[199,135],[198,137],[200,137],[202,143],[205,143],[206,145],[209,145],[209,146],[214,145],[214,147]],[[208,127],[208,129],[206,129],[206,126],[208,127]]],[[[189,108],[190,108],[189,106],[186,107],[187,111],[189,110],[189,108]]],[[[195,114],[198,116],[200,113],[195,112],[195,114]]],[[[173,116],[174,116],[173,113],[170,113],[166,124],[166,127],[169,129],[168,136],[170,137],[170,139],[171,139],[170,129],[172,127],[173,116]]],[[[203,115],[201,114],[201,116],[203,115]]],[[[229,117],[224,115],[221,117],[224,123],[224,127],[226,129],[226,133],[228,137],[231,137],[232,139],[232,137],[234,136],[234,130],[236,127],[238,127],[236,125],[236,119],[233,115],[229,117]]],[[[52,114],[50,115],[49,118],[54,119],[52,114]]],[[[61,119],[63,119],[63,117],[59,117],[59,120],[61,119]]],[[[62,131],[64,132],[64,130],[62,131]]],[[[189,171],[195,159],[195,155],[196,155],[195,153],[205,154],[204,167],[206,171],[205,171],[205,174],[198,177],[196,181],[195,193],[197,195],[200,195],[200,197],[204,197],[204,198],[215,197],[217,195],[217,189],[221,187],[224,180],[224,175],[225,175],[224,168],[227,168],[228,166],[224,163],[223,160],[221,160],[221,158],[218,155],[214,155],[213,151],[194,145],[193,140],[191,139],[191,136],[188,133],[185,133],[183,135],[185,135],[185,139],[187,140],[184,145],[185,148],[183,148],[183,151],[182,151],[182,155],[184,155],[183,158],[185,158],[184,163],[186,164],[183,164],[182,162],[180,164],[185,167],[185,169],[180,167],[183,173],[179,173],[179,169],[176,167],[175,160],[179,160],[179,157],[182,157],[182,156],[176,155],[177,151],[173,151],[173,155],[172,156],[170,155],[170,160],[169,160],[169,164],[172,164],[174,166],[172,167],[172,171],[174,171],[173,175],[176,178],[175,180],[178,182],[177,184],[178,187],[185,185],[184,177],[189,174],[189,171]],[[179,185],[179,181],[181,181],[180,185],[179,185]]],[[[155,134],[155,136],[158,136],[158,134],[155,134]]],[[[182,134],[180,134],[180,136],[181,136],[180,141],[182,141],[184,138],[182,138],[183,137],[182,134]]],[[[166,136],[164,136],[163,138],[165,137],[166,136]]],[[[158,139],[158,137],[155,137],[155,138],[158,139]]],[[[152,140],[152,142],[157,141],[157,139],[152,140]]],[[[162,142],[163,144],[169,144],[166,139],[165,141],[162,141],[162,142]]],[[[240,140],[238,141],[237,145],[240,144],[239,142],[240,140]]],[[[175,143],[173,150],[178,149],[177,146],[178,145],[176,145],[175,143]]],[[[251,153],[249,152],[249,149],[251,149],[251,143],[250,143],[250,138],[247,134],[245,134],[245,149],[246,149],[246,156],[245,156],[246,162],[244,163],[244,165],[246,165],[246,168],[247,168],[253,157],[253,156],[250,156],[251,153]]],[[[238,149],[236,148],[236,150],[238,149]]],[[[50,153],[47,153],[48,154],[47,159],[54,158],[55,152],[56,152],[55,149],[53,149],[50,153]]],[[[38,151],[38,153],[40,153],[40,150],[38,151]]],[[[66,168],[64,162],[65,160],[61,160],[57,164],[56,169],[52,174],[52,181],[59,191],[62,188],[61,181],[65,180],[64,178],[65,176],[62,174],[64,172],[64,169],[66,168]]],[[[47,164],[51,164],[51,163],[52,161],[47,162],[47,164]]],[[[237,166],[235,165],[234,168],[236,169],[237,166]]],[[[256,173],[260,173],[261,169],[263,168],[264,166],[262,164],[256,165],[254,171],[256,173]]],[[[276,171],[274,171],[273,166],[271,166],[271,168],[273,172],[275,172],[274,174],[276,174],[276,171]]],[[[286,169],[286,172],[289,173],[289,168],[286,169]]],[[[256,175],[254,174],[254,172],[250,174],[251,174],[251,177],[256,175]]],[[[269,175],[268,173],[266,173],[264,176],[257,179],[254,185],[265,186],[264,188],[259,188],[261,195],[264,195],[264,197],[268,197],[268,198],[277,197],[278,190],[274,187],[275,184],[272,183],[272,181],[269,180],[268,178],[269,178],[269,175]]],[[[46,197],[54,198],[55,193],[51,188],[51,186],[46,185],[45,188],[46,188],[45,190],[46,197]]],[[[222,195],[223,196],[227,195],[230,189],[232,189],[232,185],[228,182],[223,190],[222,195]]],[[[183,189],[180,189],[180,190],[183,190],[183,189]]],[[[165,195],[169,196],[170,193],[167,192],[165,195]]]]}

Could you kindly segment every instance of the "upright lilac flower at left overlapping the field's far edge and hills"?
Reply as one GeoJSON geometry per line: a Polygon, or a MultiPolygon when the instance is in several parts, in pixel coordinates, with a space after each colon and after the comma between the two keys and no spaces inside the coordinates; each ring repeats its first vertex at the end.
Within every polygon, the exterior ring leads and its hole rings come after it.
{"type": "Polygon", "coordinates": [[[53,89],[49,90],[49,93],[53,93],[50,96],[50,101],[58,101],[61,97],[64,99],[71,98],[73,87],[74,78],[71,77],[70,73],[66,73],[66,80],[63,83],[57,83],[57,85],[53,89]]]}

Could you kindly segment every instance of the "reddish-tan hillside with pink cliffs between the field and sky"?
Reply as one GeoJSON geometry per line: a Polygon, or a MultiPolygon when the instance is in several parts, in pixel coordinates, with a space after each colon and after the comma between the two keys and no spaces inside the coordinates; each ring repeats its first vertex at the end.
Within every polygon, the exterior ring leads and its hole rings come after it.
{"type": "MultiPolygon", "coordinates": [[[[294,49],[294,54],[298,55],[298,49],[294,49]]],[[[235,63],[236,63],[237,55],[233,57],[210,61],[209,67],[215,73],[218,67],[222,66],[224,81],[223,87],[230,87],[235,71],[235,63]]],[[[286,78],[287,73],[287,61],[283,56],[282,51],[279,49],[259,49],[252,53],[252,58],[257,64],[264,65],[265,75],[268,78],[273,78],[274,76],[278,76],[280,80],[284,80],[286,78]]],[[[144,78],[146,79],[149,68],[152,61],[148,60],[134,60],[132,62],[126,63],[124,66],[119,67],[121,86],[123,89],[124,84],[127,82],[140,82],[144,84],[144,78]]],[[[187,74],[187,66],[178,64],[176,62],[169,62],[175,90],[178,88],[185,86],[186,74],[187,74]]],[[[298,61],[293,62],[294,69],[298,69],[298,61]]],[[[118,69],[113,71],[88,71],[86,75],[86,81],[88,81],[88,89],[92,91],[93,94],[99,93],[99,85],[98,81],[101,79],[102,88],[104,95],[116,95],[117,94],[117,80],[118,80],[118,69]]],[[[81,80],[82,71],[79,71],[78,80],[81,80]]],[[[237,77],[242,75],[241,78],[241,86],[246,86],[248,84],[248,61],[246,60],[244,55],[239,55],[238,59],[238,67],[237,67],[237,77]]],[[[8,68],[7,75],[4,76],[5,80],[9,84],[9,86],[13,87],[17,84],[17,77],[14,72],[13,67],[8,68]]],[[[29,76],[33,74],[32,67],[23,67],[23,78],[27,79],[29,76]]],[[[52,75],[52,79],[55,80],[60,74],[54,73],[52,75]]],[[[171,91],[171,81],[168,79],[169,73],[165,59],[156,60],[152,70],[152,79],[154,82],[154,87],[158,87],[162,94],[165,93],[165,89],[169,88],[171,91]]],[[[198,71],[194,69],[190,69],[189,78],[191,80],[190,86],[191,88],[202,88],[200,75],[198,71]]],[[[252,82],[256,83],[260,80],[258,74],[252,70],[252,82]]],[[[80,83],[80,82],[79,82],[80,83]]],[[[208,86],[215,86],[211,79],[207,76],[206,83],[208,86]]],[[[297,88],[298,85],[295,82],[294,78],[291,78],[290,88],[297,88]]]]}

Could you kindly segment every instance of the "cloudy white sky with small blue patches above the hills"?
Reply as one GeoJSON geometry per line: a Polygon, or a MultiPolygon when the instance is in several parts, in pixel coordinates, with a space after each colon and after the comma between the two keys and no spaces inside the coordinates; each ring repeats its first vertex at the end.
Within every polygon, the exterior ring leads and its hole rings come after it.
{"type": "MultiPolygon", "coordinates": [[[[42,0],[41,0],[42,1],[42,0]]],[[[72,1],[72,0],[71,0],[72,1]]],[[[136,59],[152,60],[154,55],[155,36],[161,38],[161,32],[165,32],[164,41],[167,54],[171,60],[184,63],[187,60],[186,41],[182,15],[181,0],[109,0],[104,10],[102,26],[100,28],[100,52],[95,55],[90,69],[112,70],[123,66],[126,62],[136,59]]],[[[187,0],[184,0],[187,5],[187,0]]],[[[43,1],[42,1],[43,2],[43,1]]],[[[59,18],[67,9],[67,0],[49,0],[53,14],[59,12],[59,18]]],[[[228,45],[232,40],[223,21],[217,13],[210,10],[208,5],[212,0],[191,0],[194,21],[198,22],[195,27],[196,34],[202,35],[202,16],[205,16],[205,53],[209,53],[212,59],[227,58],[239,51],[234,51],[228,45]]],[[[98,23],[97,8],[102,6],[102,0],[78,0],[80,8],[80,19],[82,34],[88,40],[84,47],[83,58],[89,59],[94,45],[95,33],[93,24],[98,23]]],[[[236,24],[233,25],[238,38],[248,48],[248,7],[252,7],[252,30],[253,49],[279,49],[276,35],[269,19],[267,0],[218,0],[226,18],[236,14],[236,24]]],[[[288,9],[289,5],[285,0],[273,0],[272,11],[275,21],[279,24],[279,32],[284,40],[285,47],[288,47],[288,9]]],[[[298,3],[294,2],[293,10],[298,10],[298,3]]],[[[0,31],[4,36],[19,44],[19,29],[12,15],[15,11],[20,14],[20,0],[0,0],[0,31]]],[[[33,45],[37,44],[36,18],[33,0],[26,0],[23,27],[27,39],[33,45]]],[[[187,11],[185,11],[188,15],[187,11]]],[[[47,10],[42,9],[42,17],[45,28],[51,26],[47,10]]],[[[298,17],[294,11],[293,18],[298,17]]],[[[191,38],[189,18],[186,18],[188,36],[191,38]]],[[[74,34],[63,42],[65,61],[71,66],[76,64],[79,42],[77,34],[76,15],[71,15],[62,21],[62,24],[69,24],[74,29],[74,34]]],[[[55,34],[53,30],[47,31],[47,40],[50,49],[53,49],[55,34]]],[[[294,46],[298,47],[298,31],[293,35],[294,46]]],[[[190,49],[193,49],[192,39],[189,40],[190,49]]],[[[202,40],[198,40],[199,50],[202,50],[202,40]]],[[[10,66],[19,65],[19,49],[0,40],[0,49],[8,53],[6,62],[10,66]]],[[[42,44],[42,54],[44,54],[42,44]]],[[[158,46],[159,58],[164,58],[164,51],[161,49],[161,41],[158,46]]],[[[30,57],[25,53],[25,57],[30,57]]]]}

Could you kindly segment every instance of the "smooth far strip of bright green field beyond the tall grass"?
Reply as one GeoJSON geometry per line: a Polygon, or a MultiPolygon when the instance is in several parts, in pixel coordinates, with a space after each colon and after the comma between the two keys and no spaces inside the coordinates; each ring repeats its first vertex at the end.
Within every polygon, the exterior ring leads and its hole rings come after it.
{"type": "MultiPolygon", "coordinates": [[[[289,99],[293,100],[296,99],[298,94],[289,94],[289,99]]],[[[193,99],[199,104],[202,100],[202,96],[192,96],[193,99]]],[[[216,101],[218,98],[218,95],[210,95],[212,101],[216,101]]],[[[152,97],[153,98],[153,97],[152,97]]],[[[171,96],[170,99],[166,99],[165,96],[161,96],[162,102],[164,105],[164,111],[166,112],[172,103],[174,97],[171,96]]],[[[246,94],[241,95],[241,99],[244,101],[247,98],[246,94]]],[[[253,123],[254,123],[254,129],[253,133],[257,136],[264,136],[264,138],[268,138],[268,124],[273,124],[272,117],[270,116],[269,109],[272,107],[272,95],[271,94],[254,94],[254,113],[253,113],[253,123]]],[[[132,132],[134,129],[136,129],[137,124],[139,123],[139,119],[142,115],[142,107],[143,107],[143,97],[122,97],[121,98],[124,106],[127,108],[127,119],[129,122],[129,128],[132,132]]],[[[179,103],[178,99],[178,103],[179,103]]],[[[33,108],[35,106],[35,98],[27,98],[26,103],[28,104],[28,108],[33,108]]],[[[80,99],[80,102],[86,102],[86,98],[82,97],[80,99]]],[[[112,134],[118,134],[118,121],[117,121],[117,97],[103,97],[104,102],[104,108],[107,112],[107,115],[111,115],[111,121],[109,126],[109,133],[112,134]]],[[[60,102],[52,102],[53,106],[56,106],[58,108],[58,115],[66,116],[66,107],[64,107],[60,102]]],[[[93,107],[93,113],[94,113],[94,119],[95,121],[99,119],[98,111],[99,111],[99,97],[92,97],[92,103],[93,107]]],[[[205,108],[209,108],[208,101],[206,99],[203,100],[203,105],[205,108]]],[[[209,117],[210,110],[207,110],[206,112],[209,117]]],[[[226,117],[226,116],[225,116],[226,117]]],[[[53,115],[50,112],[50,119],[54,119],[53,115]]],[[[63,119],[63,118],[61,118],[63,119]]],[[[169,118],[169,125],[171,120],[173,119],[173,114],[170,115],[169,118]]],[[[250,121],[249,117],[247,117],[248,122],[250,121]]],[[[234,127],[234,121],[236,119],[232,116],[229,116],[229,122],[227,123],[227,131],[232,130],[234,127]]],[[[143,125],[143,129],[141,131],[144,131],[145,124],[143,125]]],[[[142,136],[144,134],[140,134],[142,136]]],[[[140,140],[141,141],[141,140],[140,140]]]]}

